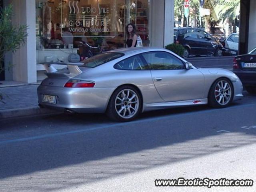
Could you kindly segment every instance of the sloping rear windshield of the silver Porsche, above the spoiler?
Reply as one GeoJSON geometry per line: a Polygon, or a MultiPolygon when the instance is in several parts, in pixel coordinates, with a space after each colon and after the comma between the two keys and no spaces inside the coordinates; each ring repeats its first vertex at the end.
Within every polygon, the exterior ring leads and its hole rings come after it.
{"type": "Polygon", "coordinates": [[[119,57],[124,56],[123,53],[116,53],[116,52],[111,52],[111,53],[101,53],[95,56],[92,56],[86,60],[83,61],[84,65],[81,67],[90,67],[94,68],[99,65],[102,65],[106,62],[112,61],[114,59],[117,59],[119,57]]]}

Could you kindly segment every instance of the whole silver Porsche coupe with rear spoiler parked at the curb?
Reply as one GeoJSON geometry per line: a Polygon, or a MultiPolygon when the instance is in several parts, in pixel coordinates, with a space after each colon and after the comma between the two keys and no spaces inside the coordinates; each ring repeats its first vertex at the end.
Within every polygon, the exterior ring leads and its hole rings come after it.
{"type": "Polygon", "coordinates": [[[130,121],[140,112],[209,104],[228,106],[242,97],[231,71],[196,68],[163,48],[123,48],[82,63],[44,63],[47,78],[38,87],[40,106],[69,112],[104,113],[130,121]]]}

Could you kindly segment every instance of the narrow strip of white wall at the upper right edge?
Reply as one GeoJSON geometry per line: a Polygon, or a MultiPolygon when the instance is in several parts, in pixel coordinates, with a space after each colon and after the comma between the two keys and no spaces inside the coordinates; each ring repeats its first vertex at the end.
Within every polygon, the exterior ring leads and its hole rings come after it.
{"type": "Polygon", "coordinates": [[[248,52],[256,47],[256,1],[250,0],[248,52]]]}

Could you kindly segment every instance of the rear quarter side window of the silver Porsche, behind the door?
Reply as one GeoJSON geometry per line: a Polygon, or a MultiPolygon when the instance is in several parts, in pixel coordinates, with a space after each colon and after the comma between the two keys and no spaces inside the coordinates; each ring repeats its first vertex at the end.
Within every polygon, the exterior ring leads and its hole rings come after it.
{"type": "Polygon", "coordinates": [[[114,68],[119,70],[148,70],[148,65],[141,60],[140,56],[136,55],[116,63],[114,68]]]}

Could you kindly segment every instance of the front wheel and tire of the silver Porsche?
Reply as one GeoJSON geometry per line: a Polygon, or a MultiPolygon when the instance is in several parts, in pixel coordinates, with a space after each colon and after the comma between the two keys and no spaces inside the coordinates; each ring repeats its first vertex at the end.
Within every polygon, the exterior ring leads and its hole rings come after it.
{"type": "Polygon", "coordinates": [[[212,84],[210,88],[208,94],[208,104],[213,108],[224,108],[230,105],[233,97],[234,88],[230,80],[228,80],[227,78],[219,78],[212,84]],[[223,83],[227,83],[227,85],[223,83]]]}

